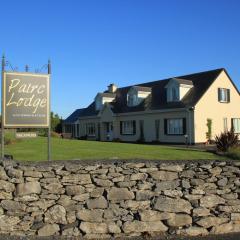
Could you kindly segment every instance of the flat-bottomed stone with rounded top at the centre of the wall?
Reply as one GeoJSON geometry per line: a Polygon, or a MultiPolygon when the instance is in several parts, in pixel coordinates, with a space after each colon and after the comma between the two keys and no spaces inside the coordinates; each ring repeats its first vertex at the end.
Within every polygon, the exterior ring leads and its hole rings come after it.
{"type": "Polygon", "coordinates": [[[129,191],[127,188],[116,188],[113,187],[108,192],[108,200],[121,201],[134,199],[134,193],[129,191]]]}

